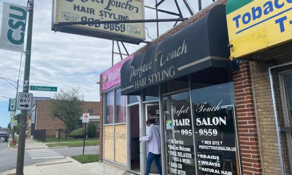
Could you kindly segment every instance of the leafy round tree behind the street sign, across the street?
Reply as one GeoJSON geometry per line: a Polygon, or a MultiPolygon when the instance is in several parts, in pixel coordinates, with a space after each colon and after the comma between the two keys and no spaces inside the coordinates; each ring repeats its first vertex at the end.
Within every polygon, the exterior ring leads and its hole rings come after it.
{"type": "Polygon", "coordinates": [[[57,117],[70,129],[76,129],[77,121],[81,116],[83,95],[78,88],[60,90],[56,92],[54,99],[50,101],[49,110],[52,118],[57,117]]]}

